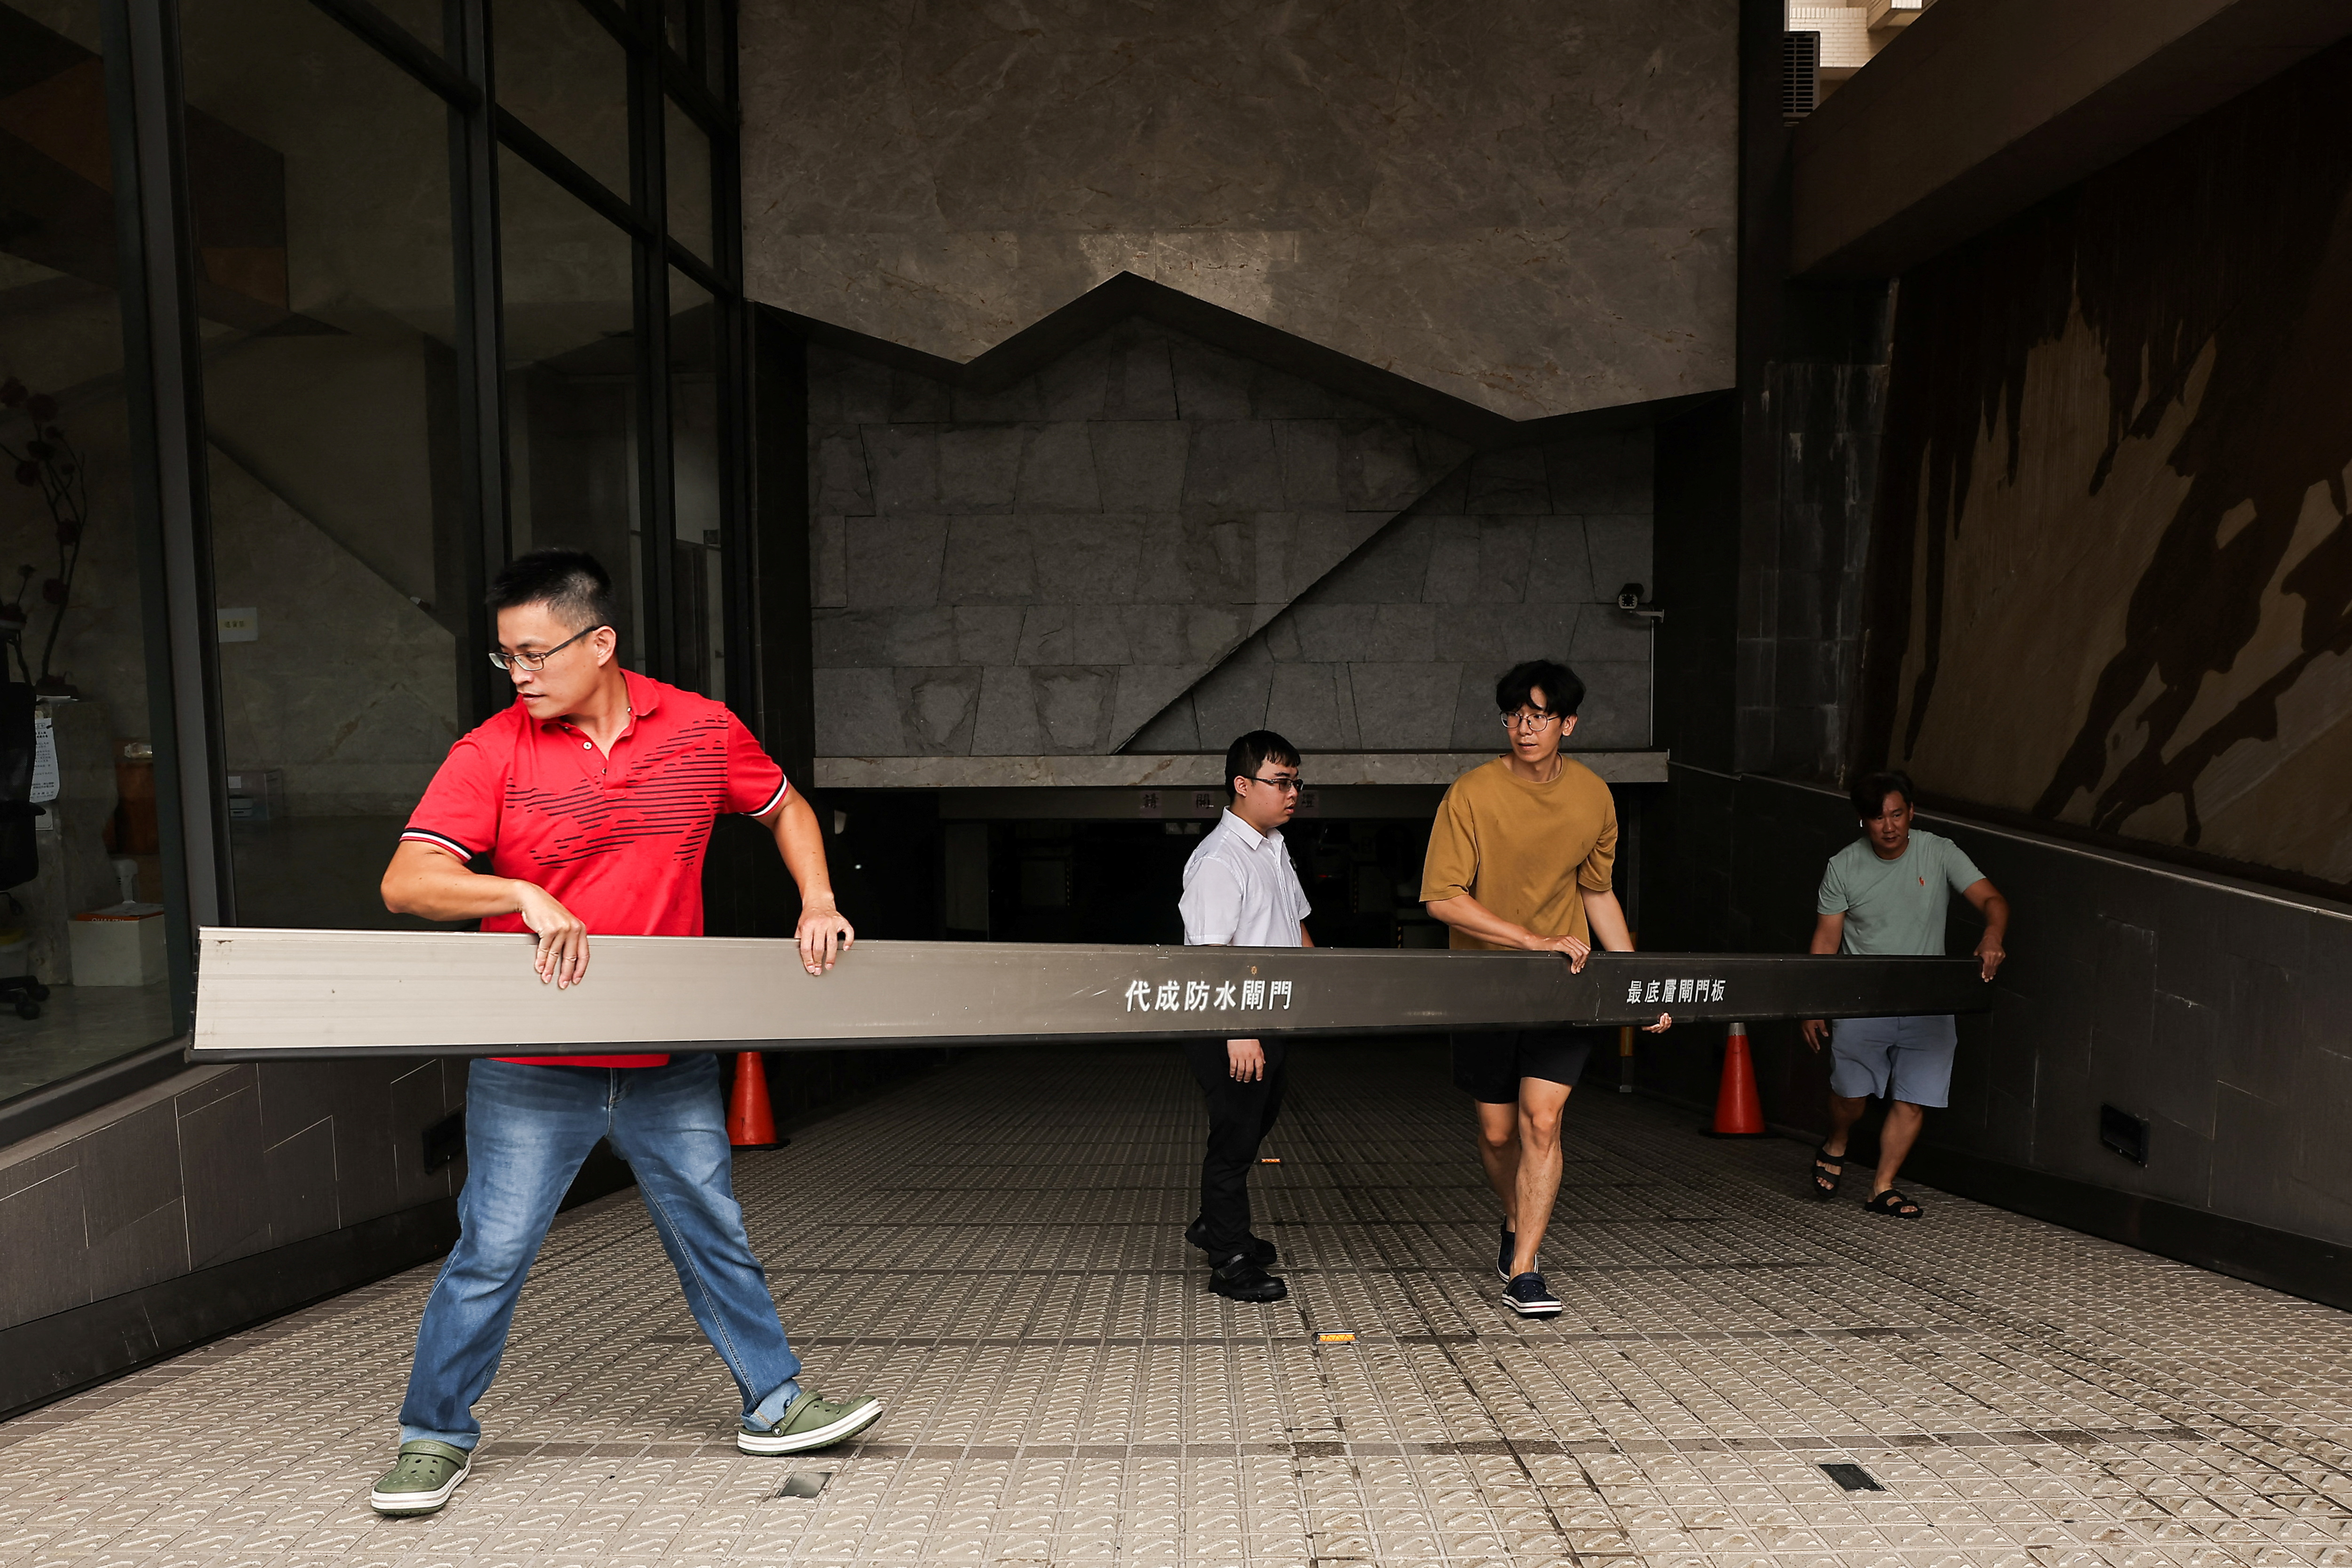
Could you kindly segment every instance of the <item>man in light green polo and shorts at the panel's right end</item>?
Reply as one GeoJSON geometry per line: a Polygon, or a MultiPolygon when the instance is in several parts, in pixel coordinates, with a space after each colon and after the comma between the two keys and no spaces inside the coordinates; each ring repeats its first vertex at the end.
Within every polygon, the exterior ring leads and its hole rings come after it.
{"type": "MultiPolygon", "coordinates": [[[[1943,917],[1959,893],[1985,917],[1985,940],[1976,959],[1985,980],[2009,957],[2009,900],[1976,863],[1933,832],[1912,830],[1910,773],[1870,773],[1853,785],[1853,813],[1863,837],[1830,856],[1813,900],[1813,952],[1940,954],[1943,917]]],[[[1863,1208],[1917,1220],[1919,1204],[1896,1192],[1896,1173],[1919,1138],[1926,1107],[1952,1103],[1952,1053],[1959,1027],[1940,1018],[1839,1018],[1804,1020],[1804,1044],[1820,1051],[1830,1039],[1830,1135],[1813,1152],[1813,1192],[1837,1194],[1846,1173],[1846,1133],[1860,1121],[1872,1095],[1886,1095],[1879,1128],[1879,1168],[1863,1208]]]]}

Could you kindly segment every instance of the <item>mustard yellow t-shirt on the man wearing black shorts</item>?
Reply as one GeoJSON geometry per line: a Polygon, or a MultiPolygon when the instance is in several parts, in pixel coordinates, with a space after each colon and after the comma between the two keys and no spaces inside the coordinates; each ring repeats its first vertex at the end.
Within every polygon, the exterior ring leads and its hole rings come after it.
{"type": "MultiPolygon", "coordinates": [[[[1616,865],[1616,799],[1569,757],[1559,778],[1529,783],[1496,757],[1446,790],[1421,865],[1421,903],[1470,893],[1536,936],[1590,943],[1583,891],[1606,893],[1616,865]]],[[[1494,947],[1454,931],[1451,947],[1494,947]]]]}

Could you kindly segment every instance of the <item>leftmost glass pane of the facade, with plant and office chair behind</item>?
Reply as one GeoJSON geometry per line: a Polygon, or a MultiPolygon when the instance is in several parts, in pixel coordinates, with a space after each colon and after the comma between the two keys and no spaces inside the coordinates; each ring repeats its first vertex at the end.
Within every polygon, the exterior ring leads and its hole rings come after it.
{"type": "Polygon", "coordinates": [[[103,33],[0,5],[0,1100],[172,1034],[103,33]]]}

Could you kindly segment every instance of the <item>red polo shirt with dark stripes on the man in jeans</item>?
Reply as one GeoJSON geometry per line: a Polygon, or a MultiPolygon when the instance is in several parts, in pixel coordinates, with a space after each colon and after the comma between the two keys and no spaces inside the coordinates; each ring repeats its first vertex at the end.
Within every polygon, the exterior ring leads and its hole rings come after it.
{"type": "MultiPolygon", "coordinates": [[[[703,851],[727,811],[767,816],[793,792],[722,703],[623,670],[628,729],[607,757],[517,701],[459,738],[402,839],[536,882],[590,936],[701,936],[703,851]]],[[[492,914],[485,931],[527,931],[492,914]]],[[[668,1056],[506,1056],[550,1067],[661,1067],[668,1056]]]]}

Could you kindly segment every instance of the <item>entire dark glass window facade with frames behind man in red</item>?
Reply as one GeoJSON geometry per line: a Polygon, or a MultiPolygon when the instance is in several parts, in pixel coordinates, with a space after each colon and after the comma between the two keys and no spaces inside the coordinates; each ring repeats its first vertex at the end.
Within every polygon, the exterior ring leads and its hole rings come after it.
{"type": "Polygon", "coordinates": [[[0,1105],[186,1032],[200,926],[402,924],[515,552],[727,691],[731,54],[717,0],[0,0],[0,1105]]]}

